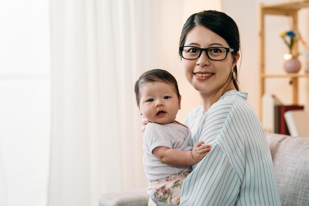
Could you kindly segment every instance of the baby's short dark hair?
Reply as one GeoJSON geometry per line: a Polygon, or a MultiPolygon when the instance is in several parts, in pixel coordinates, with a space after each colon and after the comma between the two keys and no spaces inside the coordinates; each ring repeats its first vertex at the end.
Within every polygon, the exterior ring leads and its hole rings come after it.
{"type": "Polygon", "coordinates": [[[165,70],[153,69],[142,74],[140,78],[135,82],[134,91],[137,104],[140,103],[140,91],[139,91],[140,86],[143,83],[149,83],[149,82],[162,82],[162,83],[174,84],[176,93],[178,97],[180,97],[178,84],[175,77],[165,70]]]}

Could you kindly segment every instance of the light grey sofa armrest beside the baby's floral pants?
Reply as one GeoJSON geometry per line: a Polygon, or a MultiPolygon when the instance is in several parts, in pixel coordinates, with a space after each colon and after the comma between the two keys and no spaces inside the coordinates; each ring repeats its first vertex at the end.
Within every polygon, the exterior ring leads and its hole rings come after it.
{"type": "Polygon", "coordinates": [[[149,196],[146,188],[112,192],[100,197],[100,206],[147,206],[149,196]]]}

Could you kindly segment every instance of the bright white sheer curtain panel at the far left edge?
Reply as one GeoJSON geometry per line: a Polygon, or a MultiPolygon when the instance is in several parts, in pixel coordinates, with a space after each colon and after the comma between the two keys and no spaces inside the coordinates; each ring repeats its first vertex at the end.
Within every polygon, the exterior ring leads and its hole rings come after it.
{"type": "Polygon", "coordinates": [[[0,0],[0,206],[46,206],[49,0],[0,0]]]}

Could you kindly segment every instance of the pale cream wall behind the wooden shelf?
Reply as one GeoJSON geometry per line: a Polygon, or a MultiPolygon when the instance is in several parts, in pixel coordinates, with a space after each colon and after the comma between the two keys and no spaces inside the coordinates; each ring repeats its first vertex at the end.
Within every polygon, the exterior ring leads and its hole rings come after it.
{"type": "MultiPolygon", "coordinates": [[[[239,72],[241,89],[247,91],[248,102],[259,112],[259,3],[270,4],[284,0],[222,0],[223,12],[230,15],[240,30],[242,62],[239,72]]],[[[309,43],[309,9],[299,12],[299,31],[309,43]]],[[[266,21],[266,72],[284,74],[283,55],[288,53],[287,46],[279,37],[280,33],[291,29],[291,21],[286,17],[267,16],[266,21]]],[[[305,65],[304,47],[299,46],[300,60],[305,65]]],[[[303,67],[300,73],[304,73],[303,67]]],[[[290,79],[268,79],[267,94],[275,94],[283,104],[292,104],[290,79]]],[[[309,79],[299,81],[299,104],[309,109],[309,79]]]]}

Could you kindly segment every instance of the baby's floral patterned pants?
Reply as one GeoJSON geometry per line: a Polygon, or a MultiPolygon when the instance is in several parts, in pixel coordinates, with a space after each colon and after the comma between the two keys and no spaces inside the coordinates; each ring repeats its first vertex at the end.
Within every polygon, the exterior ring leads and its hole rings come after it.
{"type": "Polygon", "coordinates": [[[149,182],[149,197],[157,206],[178,206],[183,182],[189,174],[190,172],[182,172],[149,182]]]}

